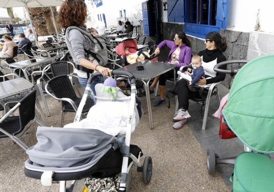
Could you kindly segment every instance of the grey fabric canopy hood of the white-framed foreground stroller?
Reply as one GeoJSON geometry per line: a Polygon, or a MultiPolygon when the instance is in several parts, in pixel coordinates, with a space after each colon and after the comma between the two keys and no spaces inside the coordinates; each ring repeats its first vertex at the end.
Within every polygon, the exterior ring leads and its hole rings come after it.
{"type": "Polygon", "coordinates": [[[112,147],[115,138],[100,130],[38,127],[37,144],[27,149],[29,159],[45,167],[76,167],[96,164],[112,147]]]}

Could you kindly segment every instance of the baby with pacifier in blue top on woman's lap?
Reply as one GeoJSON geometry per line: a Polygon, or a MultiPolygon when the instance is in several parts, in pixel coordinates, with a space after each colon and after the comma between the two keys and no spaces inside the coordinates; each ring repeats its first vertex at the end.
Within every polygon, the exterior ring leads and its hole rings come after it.
{"type": "Polygon", "coordinates": [[[178,74],[183,78],[189,81],[189,85],[196,84],[200,79],[202,79],[202,76],[205,77],[205,70],[202,66],[202,58],[199,55],[194,55],[191,58],[191,67],[188,68],[185,73],[179,73],[178,74]]]}

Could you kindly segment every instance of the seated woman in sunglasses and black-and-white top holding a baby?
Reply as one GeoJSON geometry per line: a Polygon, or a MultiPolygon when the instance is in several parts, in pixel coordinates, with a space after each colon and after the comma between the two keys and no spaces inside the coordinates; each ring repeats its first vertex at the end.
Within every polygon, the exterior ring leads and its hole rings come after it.
{"type": "MultiPolygon", "coordinates": [[[[227,60],[223,54],[227,49],[226,38],[221,37],[218,32],[210,32],[206,35],[205,44],[206,49],[198,53],[202,58],[202,65],[205,70],[205,77],[198,81],[199,85],[217,83],[223,81],[226,77],[224,73],[217,73],[213,70],[216,64],[227,60]],[[206,79],[207,77],[211,78],[206,79]]],[[[220,68],[226,69],[226,66],[224,65],[220,68]]],[[[173,125],[174,129],[182,128],[186,124],[187,118],[190,118],[190,113],[188,112],[189,99],[199,98],[198,91],[190,91],[188,82],[184,79],[177,83],[177,95],[179,110],[173,118],[173,122],[175,122],[173,125]]]]}

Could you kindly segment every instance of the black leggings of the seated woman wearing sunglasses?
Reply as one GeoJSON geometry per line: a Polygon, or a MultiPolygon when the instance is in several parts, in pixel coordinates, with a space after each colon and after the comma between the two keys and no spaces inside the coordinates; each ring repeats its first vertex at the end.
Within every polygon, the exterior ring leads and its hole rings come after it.
{"type": "Polygon", "coordinates": [[[189,82],[181,79],[177,83],[177,96],[179,108],[189,109],[189,99],[199,98],[198,91],[190,91],[188,87],[189,82]]]}

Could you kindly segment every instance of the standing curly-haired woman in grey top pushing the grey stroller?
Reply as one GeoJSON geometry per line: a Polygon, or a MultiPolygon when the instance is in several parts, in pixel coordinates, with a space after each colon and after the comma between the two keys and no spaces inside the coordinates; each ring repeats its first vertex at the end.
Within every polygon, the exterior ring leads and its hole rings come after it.
{"type": "MultiPolygon", "coordinates": [[[[86,25],[84,24],[87,17],[86,4],[83,0],[65,0],[60,7],[59,22],[64,28],[69,26],[76,26],[87,33],[86,25]]],[[[111,71],[109,68],[99,65],[96,59],[85,57],[86,50],[95,50],[94,43],[77,29],[71,29],[69,34],[65,36],[67,48],[76,64],[75,73],[78,75],[79,83],[85,88],[87,83],[87,72],[83,71],[83,67],[94,71],[99,71],[103,76],[110,76],[111,71]],[[83,67],[80,67],[83,66],[83,67]]],[[[103,81],[103,80],[102,80],[103,81]]],[[[97,83],[102,83],[98,82],[97,83]]],[[[92,85],[92,89],[93,89],[92,85]]]]}

